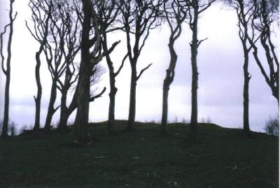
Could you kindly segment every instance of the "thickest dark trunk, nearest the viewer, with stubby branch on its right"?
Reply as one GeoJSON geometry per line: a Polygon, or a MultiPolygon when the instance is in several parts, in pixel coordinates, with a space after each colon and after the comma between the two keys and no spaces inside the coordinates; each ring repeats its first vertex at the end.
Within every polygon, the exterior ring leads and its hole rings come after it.
{"type": "Polygon", "coordinates": [[[88,114],[90,107],[90,75],[91,71],[106,53],[111,53],[113,49],[120,43],[120,41],[113,43],[112,47],[102,52],[101,48],[101,34],[97,23],[97,14],[95,5],[90,0],[82,0],[83,4],[83,24],[82,24],[82,38],[81,38],[81,61],[78,81],[78,99],[77,99],[77,113],[73,126],[73,137],[78,143],[88,143],[91,141],[88,133],[88,114]],[[90,31],[93,26],[94,29],[94,46],[90,51],[90,31]]]}

